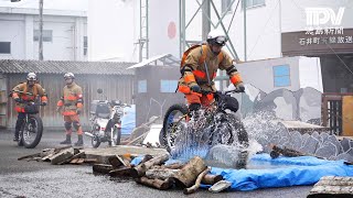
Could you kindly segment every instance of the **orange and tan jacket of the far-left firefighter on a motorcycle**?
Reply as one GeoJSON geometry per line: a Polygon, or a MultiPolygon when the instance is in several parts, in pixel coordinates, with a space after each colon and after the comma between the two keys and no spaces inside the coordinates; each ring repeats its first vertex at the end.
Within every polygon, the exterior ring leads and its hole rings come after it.
{"type": "MultiPolygon", "coordinates": [[[[41,97],[42,102],[47,101],[45,89],[43,89],[42,86],[39,84],[34,84],[31,87],[31,86],[28,86],[26,82],[22,82],[22,84],[17,85],[12,89],[12,98],[13,99],[20,98],[23,101],[34,101],[36,96],[41,97]],[[20,94],[18,91],[22,91],[23,94],[20,94]]],[[[25,102],[24,103],[17,103],[14,109],[18,112],[24,112],[24,106],[25,106],[25,102]]]]}

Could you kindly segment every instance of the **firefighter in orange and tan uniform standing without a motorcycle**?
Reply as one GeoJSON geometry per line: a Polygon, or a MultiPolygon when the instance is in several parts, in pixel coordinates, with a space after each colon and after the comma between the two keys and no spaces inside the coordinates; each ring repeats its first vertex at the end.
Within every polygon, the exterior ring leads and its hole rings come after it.
{"type": "Polygon", "coordinates": [[[57,102],[57,112],[62,111],[65,122],[66,140],[61,144],[71,144],[72,127],[77,131],[78,141],[76,146],[84,144],[83,131],[79,123],[79,113],[83,108],[82,88],[75,84],[75,76],[73,73],[64,75],[66,86],[63,89],[63,96],[57,102]]]}

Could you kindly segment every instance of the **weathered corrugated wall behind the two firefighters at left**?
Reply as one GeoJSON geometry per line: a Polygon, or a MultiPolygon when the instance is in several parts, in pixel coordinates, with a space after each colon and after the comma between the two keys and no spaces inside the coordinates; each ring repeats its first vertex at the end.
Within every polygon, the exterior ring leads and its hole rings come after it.
{"type": "MultiPolygon", "coordinates": [[[[8,74],[9,91],[20,81],[25,81],[26,74],[8,74]]],[[[49,105],[42,108],[40,116],[43,119],[44,127],[63,127],[64,121],[61,114],[56,113],[56,102],[58,101],[64,87],[63,75],[39,74],[40,84],[45,88],[49,96],[49,105]]],[[[133,76],[121,75],[75,75],[76,84],[83,88],[84,92],[84,112],[82,114],[82,124],[89,124],[89,103],[94,99],[100,99],[97,89],[104,89],[108,100],[118,99],[122,102],[132,102],[133,76]]],[[[13,100],[9,101],[8,108],[8,128],[14,128],[17,112],[14,111],[13,100]]]]}

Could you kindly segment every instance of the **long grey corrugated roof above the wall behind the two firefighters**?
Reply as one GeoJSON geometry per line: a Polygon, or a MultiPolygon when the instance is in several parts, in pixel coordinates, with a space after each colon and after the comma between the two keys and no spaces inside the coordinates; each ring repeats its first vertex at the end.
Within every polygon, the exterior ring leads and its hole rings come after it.
{"type": "Polygon", "coordinates": [[[133,70],[126,69],[133,64],[126,62],[0,59],[0,73],[133,75],[133,70]]]}

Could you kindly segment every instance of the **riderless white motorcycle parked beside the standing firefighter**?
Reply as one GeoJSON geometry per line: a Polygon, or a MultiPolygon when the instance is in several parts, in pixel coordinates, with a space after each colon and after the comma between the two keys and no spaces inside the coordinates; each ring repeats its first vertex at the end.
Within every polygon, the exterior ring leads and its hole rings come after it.
{"type": "MultiPolygon", "coordinates": [[[[103,89],[97,89],[97,92],[103,95],[103,89]]],[[[105,97],[104,100],[90,102],[92,127],[85,135],[92,138],[93,147],[98,147],[101,142],[108,142],[109,146],[120,144],[124,108],[130,107],[119,100],[108,101],[106,96],[103,95],[103,97],[105,97]]]]}

